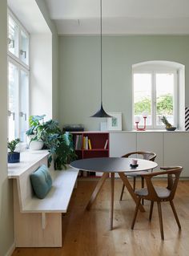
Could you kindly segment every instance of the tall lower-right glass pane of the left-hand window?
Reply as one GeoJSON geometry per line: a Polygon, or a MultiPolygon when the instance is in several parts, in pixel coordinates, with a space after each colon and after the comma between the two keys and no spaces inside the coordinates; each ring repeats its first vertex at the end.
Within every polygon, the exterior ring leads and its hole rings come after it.
{"type": "Polygon", "coordinates": [[[20,74],[20,93],[20,138],[22,141],[26,141],[29,112],[29,78],[28,74],[22,70],[20,74]]]}

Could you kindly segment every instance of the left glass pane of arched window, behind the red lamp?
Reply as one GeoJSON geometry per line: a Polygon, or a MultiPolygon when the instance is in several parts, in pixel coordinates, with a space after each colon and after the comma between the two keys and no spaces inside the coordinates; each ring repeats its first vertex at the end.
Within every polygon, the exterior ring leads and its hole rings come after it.
{"type": "MultiPolygon", "coordinates": [[[[147,112],[147,125],[151,125],[151,73],[134,74],[134,111],[143,125],[143,112],[147,112]]],[[[135,123],[134,116],[134,123],[135,123]]]]}

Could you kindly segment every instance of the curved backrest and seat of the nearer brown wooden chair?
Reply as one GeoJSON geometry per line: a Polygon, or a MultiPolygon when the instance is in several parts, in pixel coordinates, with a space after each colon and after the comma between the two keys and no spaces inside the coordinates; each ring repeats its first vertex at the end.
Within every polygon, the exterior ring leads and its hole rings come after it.
{"type": "Polygon", "coordinates": [[[181,166],[171,166],[171,167],[161,167],[164,171],[141,174],[145,178],[147,183],[148,194],[146,196],[147,200],[151,201],[171,201],[175,197],[175,192],[179,182],[180,173],[183,170],[181,166]],[[155,186],[153,185],[151,178],[157,177],[159,175],[167,174],[167,189],[159,188],[159,194],[155,191],[155,186]],[[167,193],[169,192],[169,193],[167,193]]]}

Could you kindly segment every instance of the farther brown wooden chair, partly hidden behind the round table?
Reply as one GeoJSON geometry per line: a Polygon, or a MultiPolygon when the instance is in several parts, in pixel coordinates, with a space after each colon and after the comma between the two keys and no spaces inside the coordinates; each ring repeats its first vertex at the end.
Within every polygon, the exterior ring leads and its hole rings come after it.
{"type": "MultiPolygon", "coordinates": [[[[129,152],[126,155],[122,157],[132,157],[137,158],[138,156],[141,156],[145,160],[155,161],[156,154],[155,152],[145,152],[145,151],[135,151],[135,152],[129,152]]],[[[152,170],[151,170],[152,171],[152,170]]],[[[127,174],[127,177],[133,177],[133,190],[135,191],[135,184],[136,184],[136,178],[141,177],[141,187],[144,187],[144,178],[141,176],[141,174],[147,173],[147,171],[139,172],[139,173],[129,173],[127,174]]],[[[122,191],[120,194],[120,201],[123,198],[123,192],[125,189],[125,185],[123,184],[122,191]]]]}

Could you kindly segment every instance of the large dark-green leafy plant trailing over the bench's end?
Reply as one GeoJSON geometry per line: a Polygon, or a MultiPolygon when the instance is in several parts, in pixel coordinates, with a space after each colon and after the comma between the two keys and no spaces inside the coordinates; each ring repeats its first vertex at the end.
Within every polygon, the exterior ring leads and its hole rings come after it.
{"type": "Polygon", "coordinates": [[[49,165],[54,160],[54,169],[66,168],[66,164],[76,158],[73,137],[70,132],[63,133],[56,120],[44,121],[45,115],[30,116],[30,128],[26,134],[34,135],[31,140],[42,140],[50,151],[49,165]]]}

